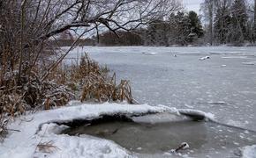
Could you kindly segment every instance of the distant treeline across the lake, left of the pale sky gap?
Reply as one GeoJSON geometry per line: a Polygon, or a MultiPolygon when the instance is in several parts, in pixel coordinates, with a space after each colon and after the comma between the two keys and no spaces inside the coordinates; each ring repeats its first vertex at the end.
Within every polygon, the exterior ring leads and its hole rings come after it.
{"type": "Polygon", "coordinates": [[[194,11],[178,11],[168,19],[155,19],[145,28],[132,32],[103,32],[93,37],[100,46],[186,46],[199,44],[204,31],[194,11]]]}

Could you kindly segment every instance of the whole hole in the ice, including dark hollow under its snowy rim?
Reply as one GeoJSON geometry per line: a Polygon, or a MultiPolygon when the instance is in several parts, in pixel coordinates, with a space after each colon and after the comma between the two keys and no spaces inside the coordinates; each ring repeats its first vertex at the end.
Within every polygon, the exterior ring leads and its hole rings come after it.
{"type": "MultiPolygon", "coordinates": [[[[70,124],[72,127],[65,129],[63,133],[88,134],[113,140],[121,147],[139,154],[163,154],[176,149],[182,142],[187,142],[190,148],[179,152],[187,154],[221,150],[230,153],[228,155],[234,155],[238,147],[255,143],[254,139],[241,139],[239,134],[243,133],[242,130],[230,130],[227,126],[193,121],[190,118],[169,113],[132,118],[125,115],[104,115],[101,118],[80,121],[77,125],[74,122],[70,124]]],[[[243,135],[245,136],[246,133],[243,135]]],[[[252,134],[247,135],[252,136],[252,134]]]]}

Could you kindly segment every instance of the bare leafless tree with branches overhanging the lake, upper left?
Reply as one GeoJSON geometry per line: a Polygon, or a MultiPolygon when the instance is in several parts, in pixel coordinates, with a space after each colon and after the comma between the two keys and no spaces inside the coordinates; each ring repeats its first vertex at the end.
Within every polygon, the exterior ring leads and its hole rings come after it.
{"type": "MultiPolygon", "coordinates": [[[[49,39],[55,39],[61,32],[71,31],[77,39],[88,32],[108,29],[117,35],[117,30],[131,31],[140,25],[147,25],[152,19],[163,18],[177,11],[177,0],[10,0],[0,1],[2,51],[11,47],[15,56],[10,68],[18,64],[19,75],[24,75],[38,62],[49,39]],[[9,16],[6,16],[9,15],[9,16]],[[19,37],[19,38],[18,38],[19,37]],[[25,66],[27,62],[28,66],[25,66]],[[26,68],[25,68],[26,67],[26,68]]],[[[72,47],[79,40],[75,40],[72,47]]],[[[70,50],[72,50],[72,47],[70,50]]],[[[60,56],[48,71],[56,68],[66,54],[60,56]]],[[[4,58],[1,58],[4,59],[4,58]]],[[[46,79],[46,73],[42,79],[46,79]]]]}

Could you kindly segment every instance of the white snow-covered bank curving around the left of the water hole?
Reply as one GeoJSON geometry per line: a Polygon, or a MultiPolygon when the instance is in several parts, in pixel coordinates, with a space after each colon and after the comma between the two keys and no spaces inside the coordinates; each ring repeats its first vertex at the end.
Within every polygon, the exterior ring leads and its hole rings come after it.
{"type": "MultiPolygon", "coordinates": [[[[61,134],[60,126],[51,122],[72,121],[73,119],[93,119],[103,114],[141,114],[147,112],[170,111],[166,107],[147,104],[81,104],[16,118],[8,126],[20,132],[10,132],[0,144],[0,157],[129,157],[128,151],[110,140],[95,139],[90,136],[79,138],[61,134]],[[47,123],[47,124],[45,124],[47,123]],[[41,126],[41,128],[40,128],[41,126]],[[40,131],[39,131],[40,130],[40,131]],[[39,145],[39,146],[38,146],[39,145]],[[44,145],[49,147],[44,148],[44,145]],[[46,154],[44,152],[49,152],[46,154]]],[[[61,126],[62,129],[66,126],[61,126]]]]}

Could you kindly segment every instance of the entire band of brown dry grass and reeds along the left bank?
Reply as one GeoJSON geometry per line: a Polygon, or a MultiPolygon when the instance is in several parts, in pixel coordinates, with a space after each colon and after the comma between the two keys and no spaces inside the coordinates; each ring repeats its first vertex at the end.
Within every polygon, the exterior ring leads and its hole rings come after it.
{"type": "Polygon", "coordinates": [[[87,54],[76,65],[57,67],[46,81],[41,81],[38,76],[42,74],[38,67],[34,67],[29,75],[22,75],[20,81],[15,70],[0,72],[0,136],[6,131],[8,119],[25,111],[63,106],[75,97],[81,102],[126,101],[137,104],[129,81],[117,83],[115,73],[109,75],[108,68],[101,67],[87,54]]]}

